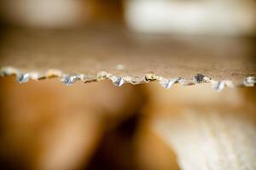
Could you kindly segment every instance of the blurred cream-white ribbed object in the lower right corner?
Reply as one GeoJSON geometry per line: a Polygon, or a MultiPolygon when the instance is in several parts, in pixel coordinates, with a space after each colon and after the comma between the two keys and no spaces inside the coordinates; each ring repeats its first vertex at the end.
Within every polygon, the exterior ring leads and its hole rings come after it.
{"type": "MultiPolygon", "coordinates": [[[[186,108],[164,116],[154,128],[175,150],[183,170],[255,169],[256,126],[248,112],[216,107],[186,108]]],[[[254,119],[254,120],[253,120],[254,119]]]]}

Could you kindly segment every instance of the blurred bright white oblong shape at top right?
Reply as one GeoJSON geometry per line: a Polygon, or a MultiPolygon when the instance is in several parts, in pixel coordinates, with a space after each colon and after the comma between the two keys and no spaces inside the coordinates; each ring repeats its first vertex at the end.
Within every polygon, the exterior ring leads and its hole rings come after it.
{"type": "Polygon", "coordinates": [[[128,0],[125,19],[143,33],[255,35],[256,5],[251,0],[128,0]]]}

